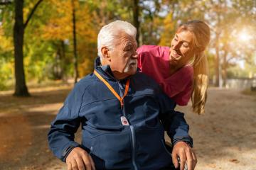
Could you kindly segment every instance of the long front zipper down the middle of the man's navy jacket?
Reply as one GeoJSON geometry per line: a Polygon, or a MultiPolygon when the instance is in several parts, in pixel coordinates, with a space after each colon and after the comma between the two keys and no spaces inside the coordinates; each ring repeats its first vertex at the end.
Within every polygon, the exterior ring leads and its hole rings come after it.
{"type": "MultiPolygon", "coordinates": [[[[120,89],[120,86],[122,86],[122,85],[119,84],[119,81],[118,81],[119,92],[120,92],[120,94],[122,96],[123,93],[122,93],[122,90],[120,89]]],[[[125,118],[127,118],[126,114],[125,114],[124,105],[121,108],[122,108],[123,116],[125,118]]],[[[131,130],[131,134],[132,134],[132,165],[134,166],[134,170],[137,170],[138,168],[137,168],[137,165],[136,165],[136,162],[135,162],[135,153],[136,153],[136,143],[135,143],[135,141],[136,141],[136,138],[135,138],[135,133],[134,133],[134,127],[129,124],[129,129],[131,130]]]]}

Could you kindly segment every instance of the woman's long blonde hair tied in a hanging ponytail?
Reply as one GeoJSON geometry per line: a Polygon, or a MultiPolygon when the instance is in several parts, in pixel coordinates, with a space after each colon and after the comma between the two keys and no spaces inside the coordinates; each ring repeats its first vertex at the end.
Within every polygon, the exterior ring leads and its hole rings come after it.
{"type": "Polygon", "coordinates": [[[178,27],[177,33],[188,30],[193,34],[196,55],[193,58],[193,91],[191,94],[193,113],[205,113],[208,87],[208,61],[204,51],[210,42],[210,28],[203,21],[193,20],[178,27]]]}

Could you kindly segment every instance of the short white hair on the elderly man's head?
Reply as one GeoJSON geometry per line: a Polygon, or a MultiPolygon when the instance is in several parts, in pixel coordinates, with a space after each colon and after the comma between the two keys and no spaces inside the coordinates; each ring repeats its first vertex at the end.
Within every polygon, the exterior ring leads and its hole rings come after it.
{"type": "Polygon", "coordinates": [[[114,21],[112,23],[103,26],[100,29],[100,33],[97,37],[97,55],[100,56],[102,61],[102,47],[107,47],[110,50],[114,47],[114,40],[117,39],[120,32],[127,33],[132,37],[136,38],[137,30],[131,23],[127,21],[114,21]]]}

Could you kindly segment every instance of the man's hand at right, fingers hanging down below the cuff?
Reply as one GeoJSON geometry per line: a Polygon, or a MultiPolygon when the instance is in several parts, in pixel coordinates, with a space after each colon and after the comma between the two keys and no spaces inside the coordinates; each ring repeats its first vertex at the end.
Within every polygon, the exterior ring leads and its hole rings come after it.
{"type": "Polygon", "coordinates": [[[180,159],[180,170],[183,170],[185,167],[185,163],[187,162],[188,170],[193,170],[196,167],[197,159],[196,153],[193,152],[191,147],[186,142],[177,142],[174,145],[174,149],[172,151],[172,161],[174,163],[175,168],[178,168],[178,157],[180,159]]]}

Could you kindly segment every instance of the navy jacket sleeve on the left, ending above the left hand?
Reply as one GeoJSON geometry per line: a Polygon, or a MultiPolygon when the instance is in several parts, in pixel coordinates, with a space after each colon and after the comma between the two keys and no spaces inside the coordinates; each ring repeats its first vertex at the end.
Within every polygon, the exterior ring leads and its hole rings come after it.
{"type": "Polygon", "coordinates": [[[84,94],[78,84],[66,98],[48,132],[49,147],[53,154],[63,162],[73,148],[80,146],[74,141],[75,132],[80,126],[79,111],[84,94]]]}

